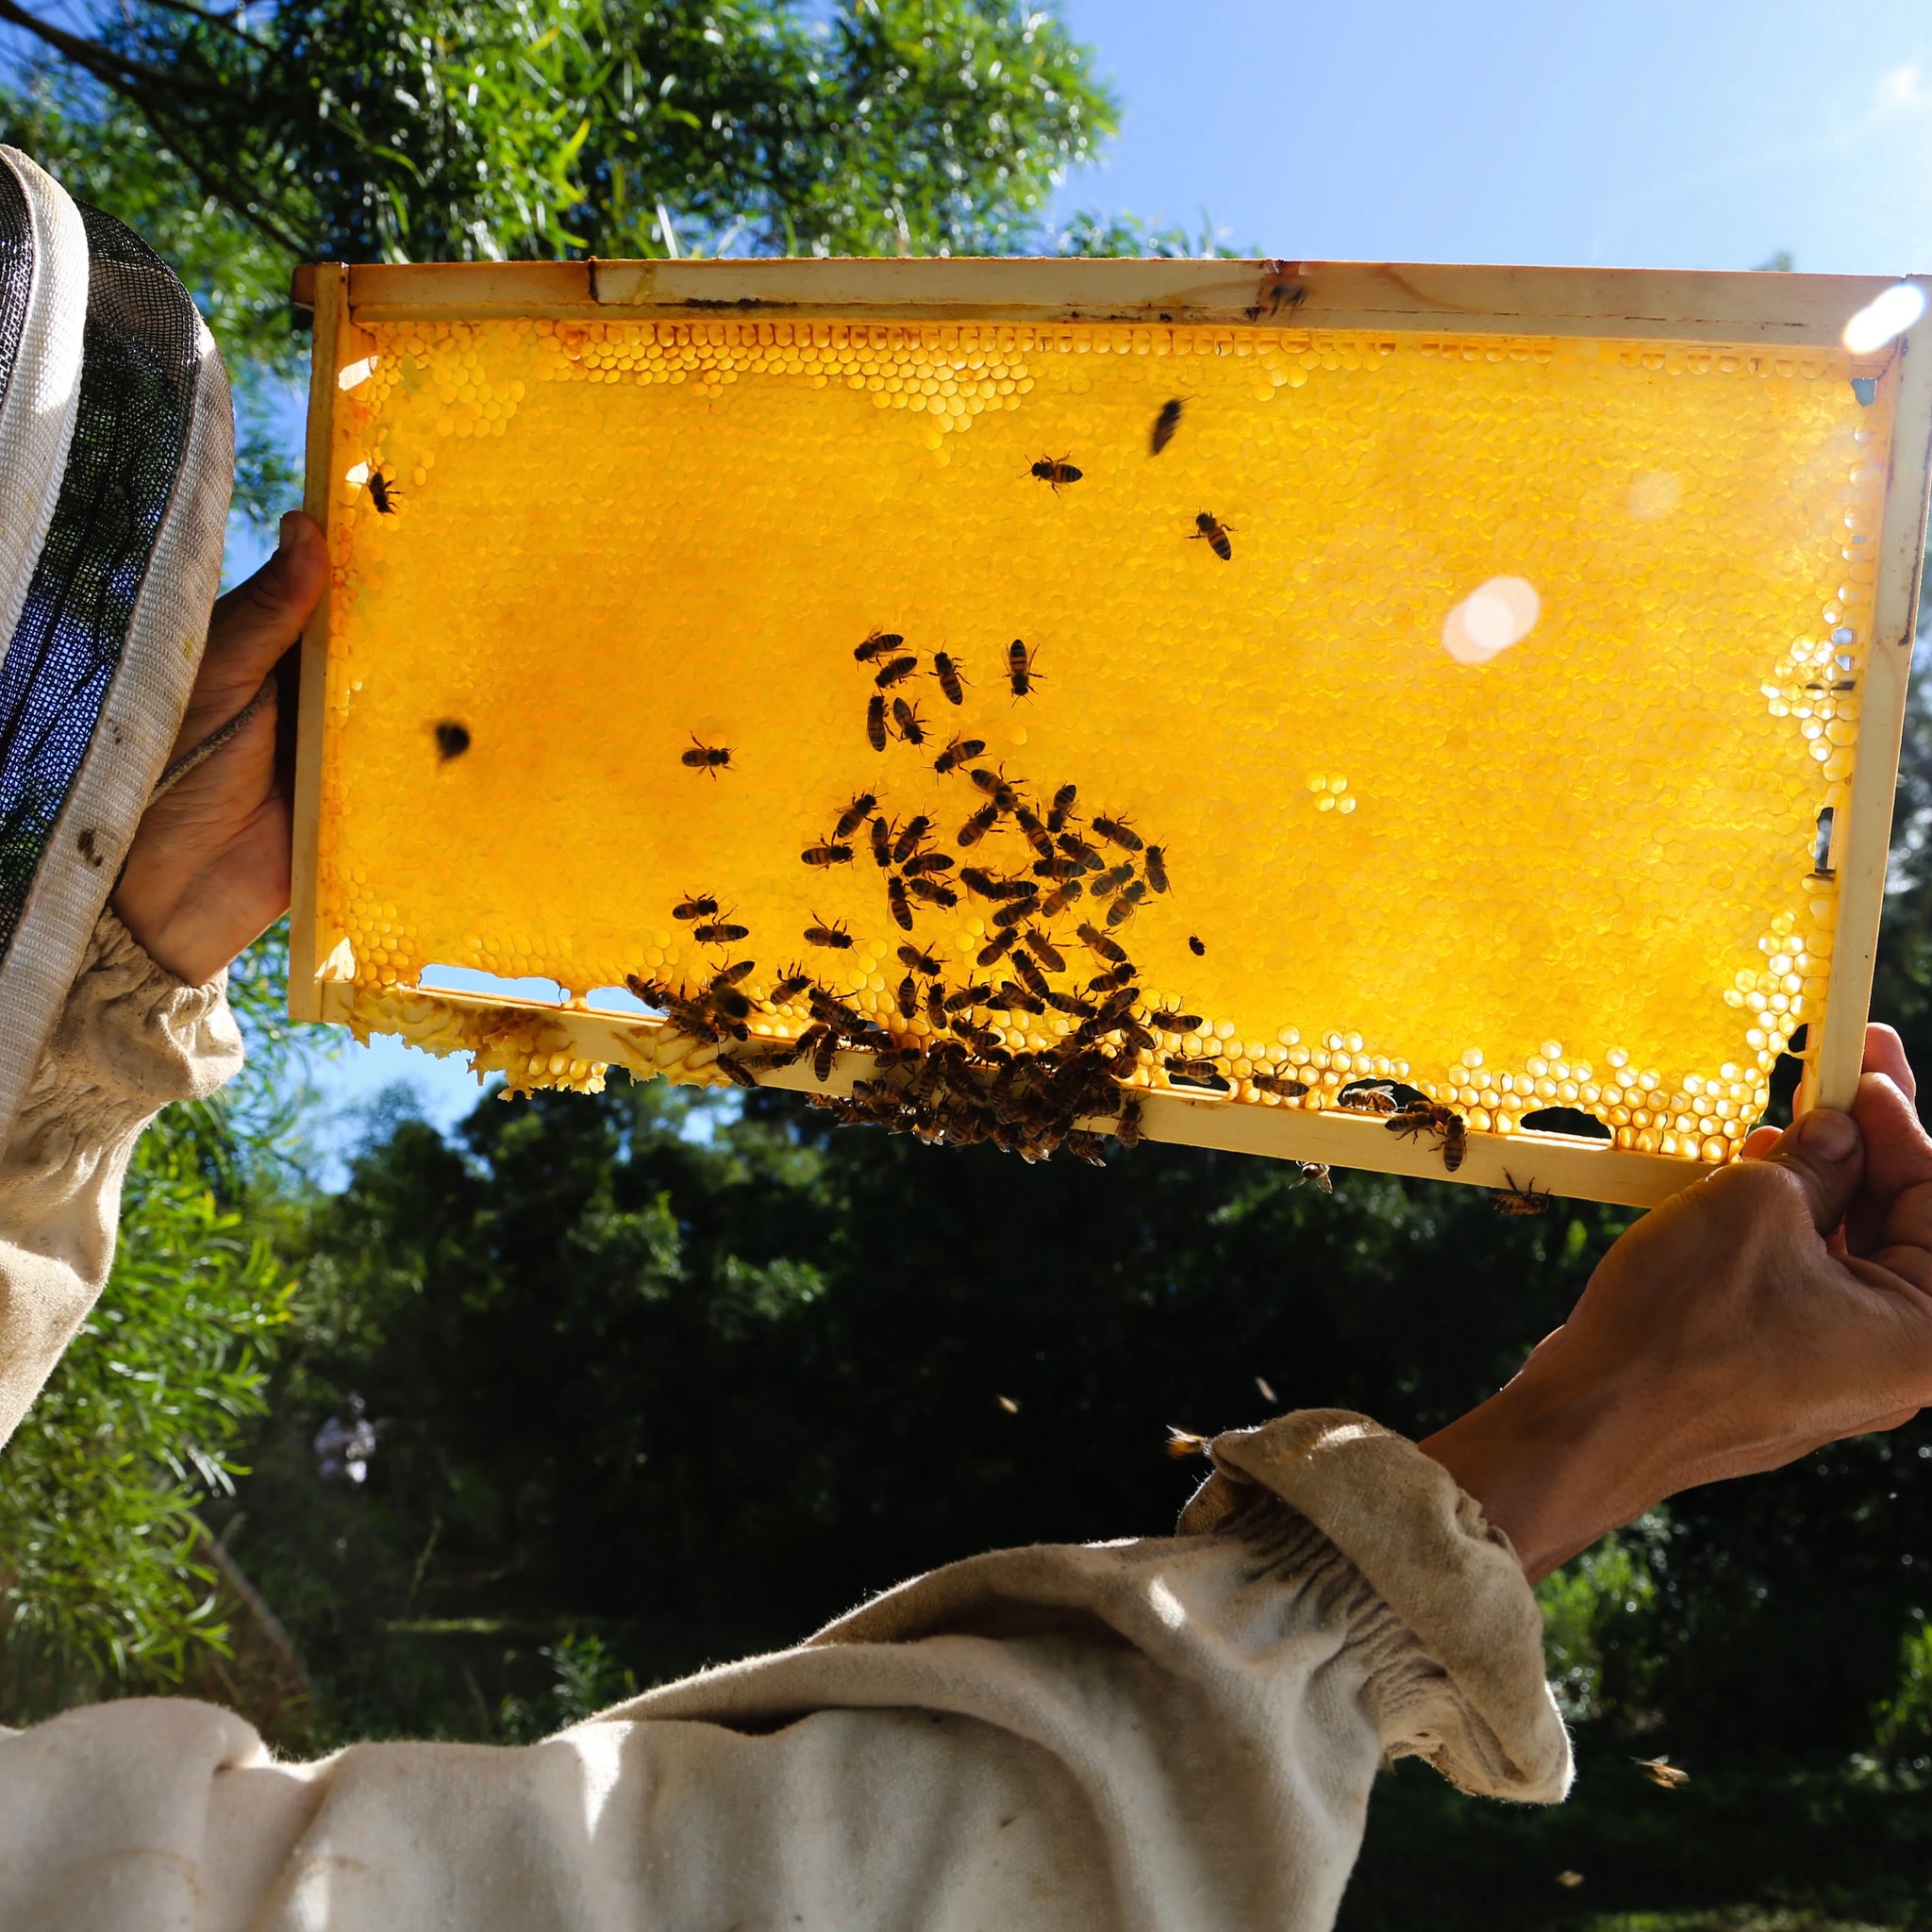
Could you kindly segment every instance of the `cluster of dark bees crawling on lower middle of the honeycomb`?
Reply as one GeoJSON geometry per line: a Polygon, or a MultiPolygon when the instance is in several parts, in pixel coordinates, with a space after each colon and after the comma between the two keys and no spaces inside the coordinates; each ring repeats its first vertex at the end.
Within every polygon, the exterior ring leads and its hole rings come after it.
{"type": "MultiPolygon", "coordinates": [[[[1151,454],[1167,448],[1180,413],[1179,400],[1161,408],[1151,454]]],[[[1043,456],[1032,475],[1055,495],[1082,479],[1066,456],[1043,456]]],[[[1223,562],[1235,554],[1231,537],[1233,529],[1213,514],[1196,516],[1192,539],[1223,562]]],[[[1217,1065],[1221,1049],[1200,1034],[1200,1014],[1151,1005],[1122,945],[1122,929],[1134,916],[1171,891],[1165,848],[1117,813],[1082,817],[1076,784],[1061,784],[1051,796],[1032,794],[1024,779],[981,763],[983,738],[935,726],[912,692],[916,680],[931,678],[945,705],[962,707],[968,678],[956,653],[933,651],[927,667],[920,651],[906,647],[904,634],[875,630],[852,659],[871,682],[866,742],[873,752],[898,742],[929,759],[941,779],[960,779],[958,823],[941,825],[927,811],[898,821],[885,811],[883,786],[860,790],[798,858],[815,871],[869,864],[879,875],[887,916],[906,935],[896,949],[904,978],[895,1007],[908,1028],[923,1018],[925,1032],[895,1032],[858,1010],[854,993],[827,983],[833,972],[813,972],[802,962],[786,966],[763,1001],[746,991],[757,970],[752,958],[719,966],[696,991],[638,976],[630,989],[680,1032],[715,1043],[717,1065],[740,1086],[757,1086],[761,1072],[802,1061],[811,1063],[823,1084],[840,1049],[864,1051],[871,1055],[869,1076],[854,1080],[850,1095],[811,1095],[815,1107],[840,1122],[885,1126],[935,1144],[991,1142],[1028,1161],[1065,1148],[1099,1165],[1107,1136],[1122,1146],[1140,1140],[1142,1101],[1126,1086],[1136,1072],[1157,1066],[1171,1088],[1231,1092],[1233,1082],[1217,1065]],[[995,837],[1003,864],[985,850],[995,837]],[[954,912],[962,896],[989,908],[987,937],[964,978],[949,978],[937,951],[920,941],[918,922],[927,912],[954,912]],[[753,1014],[800,1005],[810,1024],[796,1039],[753,1043],[753,1014]],[[1022,1051],[1007,1045],[1001,1020],[1049,1012],[1070,1022],[1053,1045],[1022,1051]],[[1161,1036],[1177,1034],[1196,1036],[1204,1045],[1194,1053],[1165,1051],[1161,1036]],[[1111,1124],[1101,1134],[1084,1122],[1111,1124]]],[[[1007,647],[1001,678],[1012,699],[1030,697],[1043,682],[1024,638],[1007,647]]],[[[732,761],[728,746],[696,736],[680,757],[713,779],[730,771],[732,761]]],[[[690,922],[701,945],[728,949],[750,937],[748,927],[719,912],[715,895],[688,896],[672,916],[690,922]]],[[[817,916],[802,939],[833,956],[856,943],[844,922],[817,916]]],[[[1196,956],[1208,951],[1198,935],[1188,937],[1188,949],[1196,956]]],[[[1283,1074],[1256,1074],[1252,1084],[1285,1099],[1308,1092],[1304,1082],[1283,1074]]],[[[1414,1088],[1356,1082],[1343,1092],[1341,1105],[1385,1115],[1395,1134],[1430,1134],[1449,1173],[1463,1165],[1463,1117],[1414,1088]]],[[[1329,1171],[1320,1163],[1293,1165],[1300,1165],[1302,1179],[1331,1190],[1329,1171]]],[[[1548,1206],[1548,1196],[1511,1186],[1497,1204],[1503,1211],[1540,1213],[1548,1206]]]]}

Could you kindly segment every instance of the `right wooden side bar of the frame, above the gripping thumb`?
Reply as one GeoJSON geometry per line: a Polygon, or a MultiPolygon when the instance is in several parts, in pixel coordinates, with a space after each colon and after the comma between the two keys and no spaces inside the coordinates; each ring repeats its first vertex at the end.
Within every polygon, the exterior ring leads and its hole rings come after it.
{"type": "MultiPolygon", "coordinates": [[[[1920,286],[1932,284],[1920,278],[1920,286]]],[[[1864,1066],[1864,1022],[1878,960],[1878,922],[1886,910],[1886,860],[1891,850],[1891,808],[1924,558],[1926,491],[1932,481],[1932,323],[1920,321],[1905,336],[1895,369],[1886,516],[1864,651],[1864,688],[1859,694],[1859,752],[1845,825],[1833,825],[1832,840],[1837,929],[1814,1078],[1806,1082],[1806,1099],[1816,1107],[1849,1107],[1864,1066]]]]}

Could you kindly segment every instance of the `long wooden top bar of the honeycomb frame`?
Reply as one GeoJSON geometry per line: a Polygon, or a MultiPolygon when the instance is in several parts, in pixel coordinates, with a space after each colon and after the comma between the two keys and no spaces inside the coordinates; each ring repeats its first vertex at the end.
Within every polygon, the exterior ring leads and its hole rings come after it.
{"type": "MultiPolygon", "coordinates": [[[[315,267],[294,274],[315,305],[315,267]]],[[[752,315],[1405,328],[1835,348],[1893,284],[1868,274],[1482,269],[1360,261],[763,259],[373,263],[352,321],[752,315]]],[[[1880,355],[1882,363],[1886,357],[1880,355]]]]}

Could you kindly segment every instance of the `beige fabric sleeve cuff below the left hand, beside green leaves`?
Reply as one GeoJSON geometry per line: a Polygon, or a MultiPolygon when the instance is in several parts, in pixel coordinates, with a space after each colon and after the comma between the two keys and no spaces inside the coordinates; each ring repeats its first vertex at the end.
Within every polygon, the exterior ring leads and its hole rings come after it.
{"type": "Polygon", "coordinates": [[[104,912],[0,1153],[0,1443],[108,1277],[141,1128],[240,1068],[226,974],[182,985],[104,912]]]}

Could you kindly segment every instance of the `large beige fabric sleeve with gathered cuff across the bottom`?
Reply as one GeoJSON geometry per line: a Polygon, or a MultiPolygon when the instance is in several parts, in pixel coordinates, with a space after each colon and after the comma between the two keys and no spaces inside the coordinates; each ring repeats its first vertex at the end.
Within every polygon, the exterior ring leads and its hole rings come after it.
{"type": "Polygon", "coordinates": [[[956,1563],[541,1745],[0,1737],[0,1922],[1318,1932],[1387,1754],[1563,1795],[1536,1604],[1439,1464],[1341,1412],[1213,1453],[1179,1536],[956,1563]]]}

